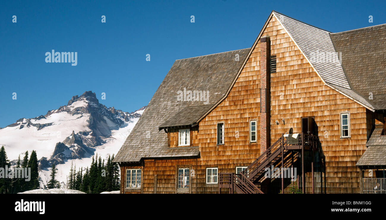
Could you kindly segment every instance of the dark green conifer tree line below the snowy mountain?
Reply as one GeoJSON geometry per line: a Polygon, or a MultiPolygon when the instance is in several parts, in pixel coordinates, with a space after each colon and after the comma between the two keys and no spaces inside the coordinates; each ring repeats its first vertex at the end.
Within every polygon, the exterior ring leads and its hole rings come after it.
{"type": "MultiPolygon", "coordinates": [[[[44,188],[68,188],[73,190],[79,190],[85,193],[101,193],[110,192],[120,189],[120,175],[119,166],[117,163],[113,163],[114,155],[108,156],[107,163],[98,154],[94,158],[90,168],[83,170],[83,167],[76,169],[76,165],[71,162],[71,169],[69,176],[67,177],[67,184],[63,183],[63,186],[56,180],[57,168],[53,163],[51,167],[50,180],[44,188]],[[84,173],[83,173],[84,171],[84,173]]],[[[19,158],[16,165],[13,168],[27,168],[29,173],[29,181],[25,181],[27,178],[17,178],[15,176],[6,176],[9,173],[11,164],[8,160],[7,153],[4,146],[0,149],[0,194],[3,193],[19,193],[28,190],[39,189],[39,172],[38,172],[38,160],[36,151],[32,150],[29,155],[28,151],[25,152],[23,160],[19,158]],[[8,169],[8,171],[5,171],[8,169]]],[[[13,169],[12,169],[13,170],[13,169]]]]}

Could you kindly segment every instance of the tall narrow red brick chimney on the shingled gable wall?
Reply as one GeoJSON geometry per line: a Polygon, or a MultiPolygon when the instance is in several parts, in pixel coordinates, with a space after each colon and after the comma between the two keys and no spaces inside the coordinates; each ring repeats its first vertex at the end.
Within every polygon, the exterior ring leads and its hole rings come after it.
{"type": "Polygon", "coordinates": [[[260,38],[260,153],[271,146],[271,40],[260,38]]]}

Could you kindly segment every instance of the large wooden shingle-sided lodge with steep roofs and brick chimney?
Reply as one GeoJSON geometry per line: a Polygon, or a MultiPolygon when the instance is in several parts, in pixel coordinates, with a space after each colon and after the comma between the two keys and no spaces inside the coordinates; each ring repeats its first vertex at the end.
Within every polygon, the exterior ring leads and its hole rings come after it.
{"type": "Polygon", "coordinates": [[[385,38],[273,11],[251,48],[176,60],[114,158],[120,192],[384,193],[385,38]]]}

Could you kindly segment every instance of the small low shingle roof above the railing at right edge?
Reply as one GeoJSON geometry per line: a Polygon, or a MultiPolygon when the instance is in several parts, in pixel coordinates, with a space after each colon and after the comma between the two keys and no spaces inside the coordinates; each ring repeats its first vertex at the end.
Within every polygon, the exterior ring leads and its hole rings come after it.
{"type": "Polygon", "coordinates": [[[386,135],[381,135],[383,127],[376,127],[366,143],[367,149],[358,160],[357,166],[386,165],[386,135]]]}

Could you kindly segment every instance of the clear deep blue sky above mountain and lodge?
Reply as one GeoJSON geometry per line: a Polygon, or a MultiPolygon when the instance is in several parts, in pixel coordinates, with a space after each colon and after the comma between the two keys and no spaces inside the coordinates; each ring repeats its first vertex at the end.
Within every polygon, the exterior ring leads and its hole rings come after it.
{"type": "Polygon", "coordinates": [[[385,6],[363,0],[3,0],[0,127],[44,115],[88,90],[107,107],[134,111],[149,103],[174,60],[251,47],[271,10],[340,32],[386,23],[385,6]],[[78,64],[46,63],[51,50],[78,52],[78,64]]]}

